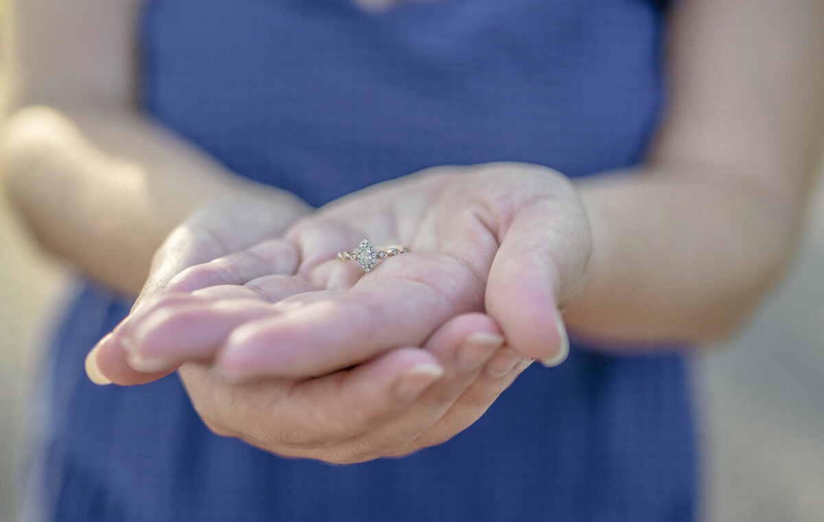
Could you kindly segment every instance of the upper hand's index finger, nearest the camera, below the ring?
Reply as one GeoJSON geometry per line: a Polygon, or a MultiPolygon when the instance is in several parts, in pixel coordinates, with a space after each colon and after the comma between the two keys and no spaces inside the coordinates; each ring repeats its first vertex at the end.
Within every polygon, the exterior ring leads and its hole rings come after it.
{"type": "Polygon", "coordinates": [[[420,346],[448,318],[479,307],[481,289],[460,261],[429,254],[391,261],[391,271],[378,266],[333,299],[237,328],[216,364],[237,375],[328,374],[393,346],[420,346]]]}

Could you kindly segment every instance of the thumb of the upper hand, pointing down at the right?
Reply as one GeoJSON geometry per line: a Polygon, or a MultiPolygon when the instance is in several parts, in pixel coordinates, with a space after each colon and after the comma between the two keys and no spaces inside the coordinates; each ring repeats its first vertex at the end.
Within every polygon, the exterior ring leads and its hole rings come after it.
{"type": "Polygon", "coordinates": [[[489,270],[486,291],[486,308],[510,346],[547,365],[559,364],[569,352],[559,305],[580,291],[592,249],[580,205],[558,199],[515,215],[489,270]]]}

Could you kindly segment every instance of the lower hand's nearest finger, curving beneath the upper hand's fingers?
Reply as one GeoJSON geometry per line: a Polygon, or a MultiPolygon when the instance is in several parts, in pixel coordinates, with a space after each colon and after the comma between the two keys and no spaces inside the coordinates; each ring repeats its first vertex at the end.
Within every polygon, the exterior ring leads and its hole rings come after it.
{"type": "Polygon", "coordinates": [[[405,411],[442,374],[434,357],[418,348],[392,350],[300,383],[225,383],[202,369],[181,369],[204,420],[279,454],[326,448],[373,430],[405,411]]]}

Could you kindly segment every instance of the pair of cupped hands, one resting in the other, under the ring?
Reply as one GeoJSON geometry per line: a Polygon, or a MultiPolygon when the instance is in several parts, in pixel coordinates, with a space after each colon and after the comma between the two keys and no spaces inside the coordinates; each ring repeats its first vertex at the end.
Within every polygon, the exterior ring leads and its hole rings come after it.
{"type": "Polygon", "coordinates": [[[334,462],[405,454],[475,421],[532,357],[563,360],[558,307],[582,285],[589,243],[574,189],[557,172],[429,169],[338,200],[283,240],[184,270],[102,343],[98,361],[115,380],[117,357],[102,355],[117,355],[112,346],[130,347],[138,370],[198,361],[180,374],[204,420],[274,453],[334,462]],[[364,275],[335,258],[364,236],[411,252],[364,275]],[[290,245],[301,254],[295,275],[273,270],[266,252],[290,245]],[[509,346],[487,350],[487,370],[461,373],[455,354],[494,327],[471,313],[484,309],[509,346]],[[267,379],[236,382],[255,376],[267,379]],[[399,402],[408,380],[420,388],[399,402]]]}

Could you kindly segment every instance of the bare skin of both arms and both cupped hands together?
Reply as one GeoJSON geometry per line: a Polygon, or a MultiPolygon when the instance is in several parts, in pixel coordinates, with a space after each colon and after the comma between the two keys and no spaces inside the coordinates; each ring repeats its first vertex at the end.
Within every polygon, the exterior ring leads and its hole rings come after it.
{"type": "Polygon", "coordinates": [[[160,139],[131,108],[136,3],[77,3],[12,2],[0,159],[16,205],[50,252],[132,293],[190,215],[87,370],[133,384],[183,364],[208,426],[274,453],[349,463],[447,440],[531,359],[563,358],[559,308],[603,350],[727,335],[794,247],[824,112],[817,0],[681,2],[672,101],[642,166],[577,185],[532,165],[438,167],[313,212],[160,139]],[[40,34],[111,41],[91,60],[40,34]],[[100,215],[121,219],[89,226],[100,215]],[[363,237],[412,252],[368,275],[333,260],[363,237]]]}

